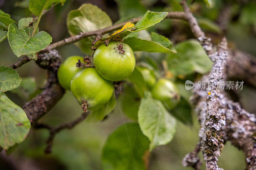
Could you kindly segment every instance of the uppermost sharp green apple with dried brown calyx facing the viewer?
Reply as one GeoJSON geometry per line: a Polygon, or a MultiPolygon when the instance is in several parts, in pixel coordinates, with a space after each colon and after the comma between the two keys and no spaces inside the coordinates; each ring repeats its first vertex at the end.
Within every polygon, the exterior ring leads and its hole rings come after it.
{"type": "Polygon", "coordinates": [[[127,44],[111,41],[108,46],[100,45],[93,55],[99,74],[109,81],[121,81],[132,74],[135,57],[127,44]]]}

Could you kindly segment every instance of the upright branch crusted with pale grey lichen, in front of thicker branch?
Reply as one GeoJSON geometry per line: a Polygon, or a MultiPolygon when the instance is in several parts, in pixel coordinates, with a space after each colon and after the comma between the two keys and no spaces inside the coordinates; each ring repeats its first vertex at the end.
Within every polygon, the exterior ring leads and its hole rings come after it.
{"type": "Polygon", "coordinates": [[[206,114],[204,121],[204,133],[202,136],[202,151],[207,170],[220,170],[217,161],[223,148],[223,139],[219,136],[221,126],[225,125],[225,117],[218,112],[219,88],[223,78],[227,52],[227,40],[223,38],[219,44],[219,50],[212,54],[213,66],[209,75],[210,86],[207,89],[206,114]]]}

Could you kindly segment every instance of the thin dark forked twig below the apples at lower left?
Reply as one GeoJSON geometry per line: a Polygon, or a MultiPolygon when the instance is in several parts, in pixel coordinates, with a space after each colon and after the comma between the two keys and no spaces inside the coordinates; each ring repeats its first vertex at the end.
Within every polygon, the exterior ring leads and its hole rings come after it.
{"type": "Polygon", "coordinates": [[[73,128],[75,125],[82,122],[88,115],[89,115],[89,112],[82,113],[82,115],[80,117],[76,118],[72,122],[65,123],[65,124],[60,124],[56,127],[52,127],[52,126],[47,125],[47,124],[39,124],[39,123],[35,124],[34,128],[36,128],[36,129],[45,128],[45,129],[50,130],[50,136],[46,141],[47,146],[46,146],[46,149],[44,150],[44,152],[46,154],[52,152],[53,139],[54,139],[56,133],[58,133],[59,131],[61,131],[63,129],[73,128]]]}

